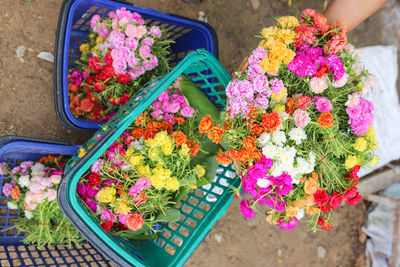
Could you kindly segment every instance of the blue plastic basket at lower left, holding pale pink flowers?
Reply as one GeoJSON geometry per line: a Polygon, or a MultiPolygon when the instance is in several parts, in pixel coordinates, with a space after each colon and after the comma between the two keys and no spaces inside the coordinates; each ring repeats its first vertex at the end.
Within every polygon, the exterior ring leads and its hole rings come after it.
{"type": "MultiPolygon", "coordinates": [[[[79,146],[61,142],[6,136],[0,138],[0,162],[7,161],[15,165],[19,160],[38,160],[45,155],[72,156],[79,146]]],[[[10,179],[0,176],[0,192],[10,179]]],[[[7,207],[7,197],[0,195],[0,231],[13,225],[18,217],[16,210],[7,207]]],[[[21,242],[24,235],[18,236],[15,229],[0,234],[0,266],[109,266],[113,265],[107,258],[99,254],[90,244],[83,247],[45,246],[36,249],[21,242]]]]}

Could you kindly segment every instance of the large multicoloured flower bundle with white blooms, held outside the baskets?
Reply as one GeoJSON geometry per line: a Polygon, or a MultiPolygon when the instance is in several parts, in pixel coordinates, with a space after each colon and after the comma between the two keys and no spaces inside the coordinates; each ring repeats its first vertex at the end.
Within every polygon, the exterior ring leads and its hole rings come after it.
{"type": "Polygon", "coordinates": [[[364,98],[374,78],[347,44],[345,23],[328,25],[315,10],[280,17],[261,35],[226,89],[223,126],[205,116],[199,130],[225,144],[220,163],[235,162],[246,218],[265,214],[290,230],[306,213],[312,230],[329,230],[334,209],[361,199],[360,167],[378,160],[364,98]]]}

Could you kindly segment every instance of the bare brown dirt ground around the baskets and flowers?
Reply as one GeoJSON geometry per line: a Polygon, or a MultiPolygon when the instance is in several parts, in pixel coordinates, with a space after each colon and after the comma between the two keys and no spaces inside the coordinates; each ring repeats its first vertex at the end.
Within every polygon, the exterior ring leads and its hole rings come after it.
{"type": "MultiPolygon", "coordinates": [[[[2,0],[0,8],[0,136],[28,137],[82,144],[89,132],[65,128],[54,108],[53,64],[37,58],[54,50],[61,0],[2,0]],[[18,46],[27,51],[16,57],[18,46]]],[[[132,1],[131,1],[132,2],[132,1]]],[[[322,11],[324,1],[261,0],[253,9],[250,0],[138,0],[136,6],[154,8],[197,19],[204,12],[217,31],[220,61],[232,72],[258,43],[254,35],[274,18],[297,14],[304,8],[322,11]]],[[[394,1],[391,1],[392,3],[394,1]]],[[[352,35],[360,46],[395,44],[399,41],[388,19],[390,7],[369,18],[352,35]],[[383,27],[385,26],[385,27],[383,27]],[[384,29],[384,30],[382,30],[384,29]],[[389,37],[388,37],[389,36],[389,37]],[[391,38],[391,39],[390,39],[391,38]]],[[[389,14],[390,15],[390,14],[389,14]]],[[[394,25],[394,24],[393,24],[394,25]]],[[[187,262],[187,266],[354,266],[363,252],[357,229],[365,216],[362,205],[341,207],[333,216],[330,232],[311,233],[305,223],[285,232],[265,221],[246,221],[234,201],[187,262]],[[326,251],[325,255],[318,256],[326,251]]]]}

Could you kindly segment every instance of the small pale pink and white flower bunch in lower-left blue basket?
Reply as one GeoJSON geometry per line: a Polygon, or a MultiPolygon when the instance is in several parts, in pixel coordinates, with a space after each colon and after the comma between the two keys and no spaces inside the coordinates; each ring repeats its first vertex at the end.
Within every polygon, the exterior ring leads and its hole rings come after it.
{"type": "Polygon", "coordinates": [[[79,245],[82,237],[64,216],[57,203],[57,188],[67,158],[48,155],[38,162],[23,161],[11,168],[0,163],[0,175],[10,177],[2,193],[9,197],[7,206],[17,210],[18,218],[13,228],[18,234],[26,234],[24,243],[36,247],[43,245],[79,245]]]}

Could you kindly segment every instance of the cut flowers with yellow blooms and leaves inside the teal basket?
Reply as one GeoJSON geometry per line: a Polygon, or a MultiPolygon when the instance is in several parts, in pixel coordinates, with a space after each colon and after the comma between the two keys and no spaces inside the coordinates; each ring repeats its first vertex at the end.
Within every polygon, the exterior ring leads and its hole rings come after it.
{"type": "Polygon", "coordinates": [[[218,146],[198,131],[207,113],[219,116],[199,88],[179,77],[94,162],[77,192],[106,232],[156,238],[158,223],[180,219],[176,204],[212,182],[218,146]]]}

